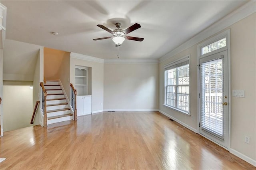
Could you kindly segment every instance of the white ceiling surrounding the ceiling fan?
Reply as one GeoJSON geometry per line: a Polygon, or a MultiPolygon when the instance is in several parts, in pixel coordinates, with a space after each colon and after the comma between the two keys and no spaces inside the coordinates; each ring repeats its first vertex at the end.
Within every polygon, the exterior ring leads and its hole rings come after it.
{"type": "Polygon", "coordinates": [[[138,23],[142,26],[125,40],[121,59],[158,59],[186,42],[248,1],[1,1],[7,7],[6,38],[99,57],[117,59],[118,48],[111,36],[97,27],[114,30],[138,23]],[[51,32],[58,32],[54,36],[51,32]]]}

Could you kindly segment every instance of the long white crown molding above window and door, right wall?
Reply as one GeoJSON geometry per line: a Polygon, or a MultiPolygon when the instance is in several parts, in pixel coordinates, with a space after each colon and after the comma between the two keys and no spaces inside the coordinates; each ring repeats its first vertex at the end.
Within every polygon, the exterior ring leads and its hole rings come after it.
{"type": "Polygon", "coordinates": [[[256,12],[256,1],[249,1],[240,8],[236,9],[235,11],[231,12],[221,20],[215,22],[190,40],[186,41],[182,45],[178,46],[177,48],[173,49],[172,51],[168,52],[166,55],[159,58],[160,63],[165,61],[168,58],[173,57],[174,55],[180,53],[181,51],[192,47],[193,45],[205,40],[206,38],[224,30],[228,26],[246,18],[247,16],[256,12]]]}

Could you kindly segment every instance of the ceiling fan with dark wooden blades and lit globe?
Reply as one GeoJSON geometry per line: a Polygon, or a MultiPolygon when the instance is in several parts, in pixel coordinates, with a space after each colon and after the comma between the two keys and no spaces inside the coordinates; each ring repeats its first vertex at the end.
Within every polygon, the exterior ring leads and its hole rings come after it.
{"type": "Polygon", "coordinates": [[[108,39],[108,38],[112,38],[113,42],[116,44],[116,47],[120,46],[125,39],[127,40],[134,40],[134,41],[139,41],[142,42],[144,40],[144,38],[138,38],[138,37],[131,37],[131,36],[126,36],[126,34],[137,30],[138,28],[140,28],[140,24],[133,24],[132,26],[130,26],[129,28],[126,28],[125,30],[120,29],[121,24],[118,22],[116,23],[116,30],[109,30],[108,28],[106,28],[103,25],[98,24],[98,27],[102,28],[103,30],[106,30],[107,32],[111,33],[113,36],[112,37],[104,37],[104,38],[96,38],[93,39],[94,41],[96,40],[104,40],[104,39],[108,39]]]}

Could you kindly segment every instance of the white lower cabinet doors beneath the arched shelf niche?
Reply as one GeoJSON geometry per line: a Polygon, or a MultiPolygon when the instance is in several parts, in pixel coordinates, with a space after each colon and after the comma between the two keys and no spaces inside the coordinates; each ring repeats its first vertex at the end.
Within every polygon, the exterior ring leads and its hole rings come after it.
{"type": "Polygon", "coordinates": [[[77,116],[88,115],[92,113],[92,96],[77,96],[77,116]]]}

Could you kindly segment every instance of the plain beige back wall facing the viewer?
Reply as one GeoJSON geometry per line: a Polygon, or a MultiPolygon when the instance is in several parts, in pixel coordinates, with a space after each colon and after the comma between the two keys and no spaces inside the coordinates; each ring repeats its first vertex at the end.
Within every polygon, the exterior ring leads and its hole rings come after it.
{"type": "Polygon", "coordinates": [[[158,109],[158,64],[104,64],[104,110],[158,109]]]}

